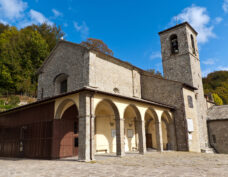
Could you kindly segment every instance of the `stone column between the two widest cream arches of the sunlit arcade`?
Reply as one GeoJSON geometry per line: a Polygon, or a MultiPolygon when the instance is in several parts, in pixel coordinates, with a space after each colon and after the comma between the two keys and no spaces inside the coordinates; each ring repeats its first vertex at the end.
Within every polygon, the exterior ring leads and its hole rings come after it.
{"type": "Polygon", "coordinates": [[[116,117],[116,155],[124,156],[124,119],[116,117]]]}

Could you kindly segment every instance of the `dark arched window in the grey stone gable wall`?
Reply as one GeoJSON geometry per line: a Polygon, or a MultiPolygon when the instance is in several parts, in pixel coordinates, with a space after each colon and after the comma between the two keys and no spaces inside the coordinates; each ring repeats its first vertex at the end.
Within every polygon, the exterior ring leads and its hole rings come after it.
{"type": "Polygon", "coordinates": [[[67,92],[67,78],[68,75],[64,73],[61,73],[55,77],[53,81],[55,85],[55,95],[67,92]]]}

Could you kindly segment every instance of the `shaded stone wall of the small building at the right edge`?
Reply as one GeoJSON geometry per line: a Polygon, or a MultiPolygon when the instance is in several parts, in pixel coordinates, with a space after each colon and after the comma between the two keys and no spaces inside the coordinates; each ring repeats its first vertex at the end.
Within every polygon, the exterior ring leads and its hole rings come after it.
{"type": "Polygon", "coordinates": [[[210,144],[218,153],[228,154],[228,119],[208,121],[210,144]]]}

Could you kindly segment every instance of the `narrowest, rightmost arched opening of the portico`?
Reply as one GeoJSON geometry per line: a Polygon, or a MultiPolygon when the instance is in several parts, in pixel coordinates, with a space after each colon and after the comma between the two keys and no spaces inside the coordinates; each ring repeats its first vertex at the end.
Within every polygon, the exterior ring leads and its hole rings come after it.
{"type": "Polygon", "coordinates": [[[168,111],[164,111],[162,113],[161,124],[164,150],[176,150],[176,134],[174,120],[168,111]]]}

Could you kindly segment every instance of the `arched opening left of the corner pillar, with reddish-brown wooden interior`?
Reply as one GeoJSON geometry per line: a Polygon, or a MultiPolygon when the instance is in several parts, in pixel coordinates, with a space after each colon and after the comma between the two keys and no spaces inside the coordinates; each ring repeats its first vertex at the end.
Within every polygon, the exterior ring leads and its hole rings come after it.
{"type": "Polygon", "coordinates": [[[53,122],[52,157],[78,155],[78,109],[72,100],[62,102],[53,122]]]}

